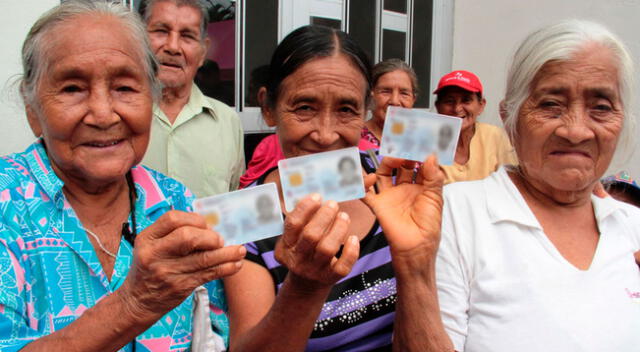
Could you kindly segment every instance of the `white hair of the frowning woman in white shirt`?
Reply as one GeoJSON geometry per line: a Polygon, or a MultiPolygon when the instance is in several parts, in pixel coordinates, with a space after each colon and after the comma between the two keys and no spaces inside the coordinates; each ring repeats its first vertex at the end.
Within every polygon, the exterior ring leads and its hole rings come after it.
{"type": "Polygon", "coordinates": [[[598,44],[611,51],[618,61],[620,101],[624,112],[619,141],[632,145],[636,127],[633,104],[633,60],[625,45],[604,26],[584,20],[566,20],[530,34],[516,51],[507,75],[507,89],[501,110],[504,127],[516,138],[517,119],[527,100],[531,84],[542,66],[550,61],[570,60],[587,44],[598,44]]]}

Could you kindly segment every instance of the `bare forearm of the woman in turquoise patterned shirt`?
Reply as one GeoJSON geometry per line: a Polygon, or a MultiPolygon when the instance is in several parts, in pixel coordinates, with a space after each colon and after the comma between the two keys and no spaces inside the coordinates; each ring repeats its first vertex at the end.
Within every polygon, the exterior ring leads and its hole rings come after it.
{"type": "Polygon", "coordinates": [[[162,314],[139,314],[115,291],[78,319],[21,351],[116,351],[155,323],[162,314]]]}

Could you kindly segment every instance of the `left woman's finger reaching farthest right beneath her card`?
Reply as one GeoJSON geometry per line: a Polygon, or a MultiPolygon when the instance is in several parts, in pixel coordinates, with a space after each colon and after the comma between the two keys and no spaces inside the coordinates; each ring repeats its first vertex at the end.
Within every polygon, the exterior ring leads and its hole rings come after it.
{"type": "Polygon", "coordinates": [[[195,273],[225,263],[234,263],[244,259],[247,254],[242,245],[229,246],[211,251],[192,253],[186,257],[171,261],[171,266],[176,273],[195,273]]]}

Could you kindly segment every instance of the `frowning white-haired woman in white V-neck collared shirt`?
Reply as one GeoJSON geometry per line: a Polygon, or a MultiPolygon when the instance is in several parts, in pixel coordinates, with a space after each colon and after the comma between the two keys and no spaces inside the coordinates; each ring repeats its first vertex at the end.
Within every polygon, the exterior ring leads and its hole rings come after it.
{"type": "Polygon", "coordinates": [[[640,346],[640,210],[593,195],[634,127],[632,77],[598,24],[520,45],[501,103],[519,166],[445,187],[437,284],[456,350],[640,346]]]}

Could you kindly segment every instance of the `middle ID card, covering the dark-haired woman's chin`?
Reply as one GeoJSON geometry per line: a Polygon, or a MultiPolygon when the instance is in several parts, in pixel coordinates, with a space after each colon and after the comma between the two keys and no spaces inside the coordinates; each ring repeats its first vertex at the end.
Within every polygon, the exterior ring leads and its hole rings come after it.
{"type": "Polygon", "coordinates": [[[280,160],[278,170],[287,211],[311,193],[336,202],[364,197],[356,147],[280,160]]]}

